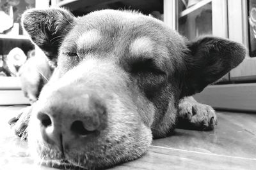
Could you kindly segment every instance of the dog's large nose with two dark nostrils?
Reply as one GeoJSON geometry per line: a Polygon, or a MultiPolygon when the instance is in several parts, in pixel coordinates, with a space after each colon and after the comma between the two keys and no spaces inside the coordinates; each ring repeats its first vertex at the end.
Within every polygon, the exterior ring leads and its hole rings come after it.
{"type": "Polygon", "coordinates": [[[60,150],[106,128],[106,107],[97,96],[57,95],[48,102],[47,109],[37,113],[42,139],[60,150]]]}

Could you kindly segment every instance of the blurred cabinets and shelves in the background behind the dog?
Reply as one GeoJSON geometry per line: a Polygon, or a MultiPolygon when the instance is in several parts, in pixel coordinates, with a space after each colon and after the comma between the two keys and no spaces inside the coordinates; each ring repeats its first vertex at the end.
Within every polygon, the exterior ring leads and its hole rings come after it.
{"type": "Polygon", "coordinates": [[[61,6],[74,15],[95,10],[138,10],[162,20],[193,40],[213,35],[243,43],[242,64],[196,99],[220,110],[256,111],[255,0],[0,0],[0,105],[28,104],[20,87],[20,67],[42,52],[22,31],[20,15],[28,8],[61,6]]]}

